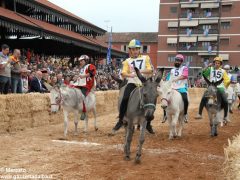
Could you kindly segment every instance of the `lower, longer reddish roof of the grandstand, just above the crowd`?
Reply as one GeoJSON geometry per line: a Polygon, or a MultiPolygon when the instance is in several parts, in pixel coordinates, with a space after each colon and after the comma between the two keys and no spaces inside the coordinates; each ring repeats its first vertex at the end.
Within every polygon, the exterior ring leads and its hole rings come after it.
{"type": "MultiPolygon", "coordinates": [[[[21,25],[30,26],[34,29],[44,30],[44,32],[50,32],[51,34],[59,35],[61,37],[72,38],[75,41],[81,41],[81,42],[84,42],[84,43],[87,43],[90,45],[94,45],[94,46],[101,46],[105,49],[107,49],[107,47],[108,47],[108,45],[102,41],[93,39],[91,37],[80,35],[73,31],[69,31],[69,30],[60,28],[58,26],[55,26],[53,24],[49,24],[44,21],[40,21],[40,20],[25,16],[22,14],[15,13],[13,11],[10,11],[10,10],[7,10],[7,9],[1,8],[1,7],[0,7],[0,17],[14,21],[21,25]]],[[[113,50],[116,52],[123,53],[119,49],[113,48],[113,50]]]]}

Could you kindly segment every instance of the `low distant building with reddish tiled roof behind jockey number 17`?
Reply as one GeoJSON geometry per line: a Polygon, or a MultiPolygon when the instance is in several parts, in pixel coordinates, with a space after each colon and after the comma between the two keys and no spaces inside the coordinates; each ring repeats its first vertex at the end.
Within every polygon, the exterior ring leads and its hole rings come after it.
{"type": "MultiPolygon", "coordinates": [[[[158,46],[158,37],[157,32],[128,32],[128,33],[112,33],[112,45],[128,53],[128,44],[132,39],[138,39],[142,43],[141,53],[149,55],[151,58],[153,66],[157,67],[157,46],[158,46]]],[[[104,36],[98,37],[104,42],[108,42],[109,33],[104,36]]]]}

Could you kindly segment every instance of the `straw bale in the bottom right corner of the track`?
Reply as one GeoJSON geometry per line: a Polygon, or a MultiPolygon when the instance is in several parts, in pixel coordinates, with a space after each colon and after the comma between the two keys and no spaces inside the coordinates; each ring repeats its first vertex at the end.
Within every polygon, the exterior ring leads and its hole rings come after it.
{"type": "Polygon", "coordinates": [[[224,148],[224,173],[226,179],[240,178],[240,134],[228,140],[228,147],[224,148]]]}

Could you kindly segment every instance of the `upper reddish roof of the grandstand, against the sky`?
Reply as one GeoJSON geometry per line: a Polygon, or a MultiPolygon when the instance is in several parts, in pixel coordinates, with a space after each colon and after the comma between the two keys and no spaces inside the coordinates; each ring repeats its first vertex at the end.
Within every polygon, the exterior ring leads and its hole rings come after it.
{"type": "Polygon", "coordinates": [[[71,13],[71,12],[69,12],[69,11],[67,11],[67,10],[65,10],[65,9],[63,9],[63,8],[61,8],[61,7],[53,4],[53,3],[51,3],[51,2],[49,2],[48,0],[35,0],[35,2],[38,3],[38,4],[40,4],[40,5],[45,6],[45,7],[47,7],[47,8],[53,9],[53,10],[55,10],[55,11],[58,11],[58,12],[61,13],[61,14],[64,14],[64,15],[67,15],[67,16],[69,16],[69,17],[72,17],[72,18],[74,18],[74,19],[76,19],[76,20],[85,22],[86,24],[89,24],[89,25],[93,26],[94,28],[97,28],[97,29],[99,29],[99,30],[101,30],[101,31],[106,32],[106,30],[104,30],[104,29],[102,29],[102,28],[100,28],[100,27],[98,27],[98,26],[96,26],[96,25],[94,25],[94,24],[92,24],[92,23],[90,23],[90,22],[88,22],[88,21],[80,18],[79,16],[76,16],[75,14],[73,14],[73,13],[71,13]]]}

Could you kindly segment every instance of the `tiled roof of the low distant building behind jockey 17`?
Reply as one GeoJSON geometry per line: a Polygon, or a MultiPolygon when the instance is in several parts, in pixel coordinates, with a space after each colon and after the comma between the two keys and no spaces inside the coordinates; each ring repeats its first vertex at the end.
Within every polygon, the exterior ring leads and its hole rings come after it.
{"type": "MultiPolygon", "coordinates": [[[[108,42],[109,33],[106,33],[98,39],[108,42]]],[[[157,43],[158,33],[157,32],[126,32],[126,33],[112,33],[112,42],[115,43],[128,43],[132,39],[138,39],[141,43],[157,43]]]]}

